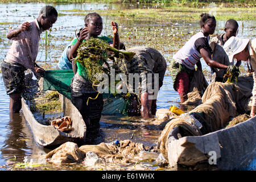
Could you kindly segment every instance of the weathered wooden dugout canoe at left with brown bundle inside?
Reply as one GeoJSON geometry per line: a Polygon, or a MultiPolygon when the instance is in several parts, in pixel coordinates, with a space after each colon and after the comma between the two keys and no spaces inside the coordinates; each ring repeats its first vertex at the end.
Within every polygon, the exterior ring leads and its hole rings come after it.
{"type": "Polygon", "coordinates": [[[56,147],[65,142],[84,142],[86,137],[86,125],[79,110],[68,98],[60,97],[63,115],[72,119],[71,133],[64,133],[51,125],[42,125],[36,121],[30,110],[30,101],[22,98],[23,115],[30,126],[36,143],[42,147],[56,147]]]}

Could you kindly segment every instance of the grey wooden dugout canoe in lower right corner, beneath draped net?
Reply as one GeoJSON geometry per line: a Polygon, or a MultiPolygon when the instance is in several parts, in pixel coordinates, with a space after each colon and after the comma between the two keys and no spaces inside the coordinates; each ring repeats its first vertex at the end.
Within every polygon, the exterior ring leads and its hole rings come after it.
{"type": "Polygon", "coordinates": [[[256,117],[199,137],[179,138],[178,133],[180,127],[174,127],[167,139],[168,162],[174,170],[181,166],[244,170],[255,160],[256,117]]]}

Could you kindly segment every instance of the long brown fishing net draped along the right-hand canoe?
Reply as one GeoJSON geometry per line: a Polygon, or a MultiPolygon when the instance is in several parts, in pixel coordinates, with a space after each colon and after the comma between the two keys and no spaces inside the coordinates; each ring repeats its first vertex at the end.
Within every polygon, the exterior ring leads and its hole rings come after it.
{"type": "Polygon", "coordinates": [[[167,154],[167,139],[176,126],[180,126],[186,136],[204,135],[224,128],[232,118],[245,113],[250,97],[251,89],[245,86],[212,82],[205,90],[201,105],[185,113],[189,114],[186,117],[181,114],[167,123],[159,138],[159,149],[167,154]],[[201,123],[201,128],[195,127],[196,121],[201,123]]]}

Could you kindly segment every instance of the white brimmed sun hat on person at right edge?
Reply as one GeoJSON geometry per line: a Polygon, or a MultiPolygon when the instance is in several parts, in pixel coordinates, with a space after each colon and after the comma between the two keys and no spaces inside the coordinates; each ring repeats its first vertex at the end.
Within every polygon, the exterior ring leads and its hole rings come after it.
{"type": "Polygon", "coordinates": [[[224,44],[223,48],[226,52],[226,54],[229,56],[229,62],[233,62],[233,56],[237,53],[240,53],[245,49],[247,44],[249,43],[250,39],[240,39],[235,36],[232,36],[227,40],[227,42],[224,44]]]}

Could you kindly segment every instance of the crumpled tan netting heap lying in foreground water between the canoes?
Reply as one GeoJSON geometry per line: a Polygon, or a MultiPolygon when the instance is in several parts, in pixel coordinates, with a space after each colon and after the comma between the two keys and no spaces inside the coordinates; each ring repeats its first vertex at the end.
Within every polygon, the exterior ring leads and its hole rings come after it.
{"type": "MultiPolygon", "coordinates": [[[[88,156],[96,155],[97,162],[108,163],[135,163],[135,156],[144,151],[142,143],[131,140],[122,140],[119,144],[100,143],[78,147],[76,143],[66,142],[46,155],[50,163],[81,163],[88,156]]],[[[97,163],[96,162],[96,163],[97,163]]]]}

